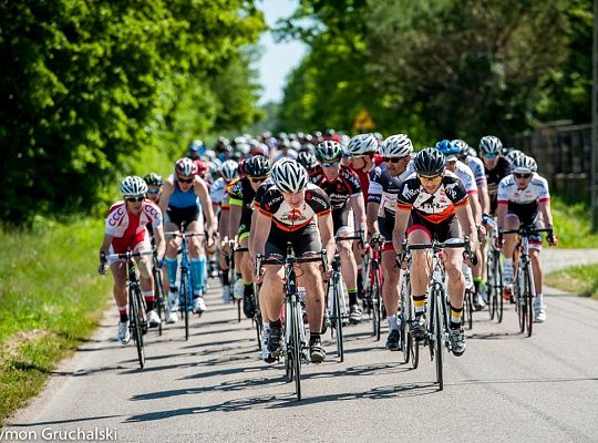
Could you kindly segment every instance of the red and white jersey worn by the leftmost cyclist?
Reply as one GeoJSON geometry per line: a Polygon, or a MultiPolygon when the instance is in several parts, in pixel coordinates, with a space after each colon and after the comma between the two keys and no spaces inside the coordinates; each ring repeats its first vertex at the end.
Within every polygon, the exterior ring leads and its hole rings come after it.
{"type": "Polygon", "coordinates": [[[125,202],[117,202],[109,209],[105,220],[105,233],[111,235],[112,247],[116,254],[133,250],[140,243],[147,241],[150,235],[145,225],[153,228],[162,226],[162,212],[148,199],[142,204],[138,214],[126,209],[125,202]]]}

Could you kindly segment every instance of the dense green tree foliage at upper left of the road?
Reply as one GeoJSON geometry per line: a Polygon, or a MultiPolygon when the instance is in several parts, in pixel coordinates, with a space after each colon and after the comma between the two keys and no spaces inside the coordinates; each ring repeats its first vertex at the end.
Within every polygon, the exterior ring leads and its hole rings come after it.
{"type": "Polygon", "coordinates": [[[241,48],[265,23],[251,0],[4,1],[0,29],[0,215],[12,223],[86,210],[144,150],[256,119],[241,48]],[[218,87],[227,75],[240,80],[218,87]]]}

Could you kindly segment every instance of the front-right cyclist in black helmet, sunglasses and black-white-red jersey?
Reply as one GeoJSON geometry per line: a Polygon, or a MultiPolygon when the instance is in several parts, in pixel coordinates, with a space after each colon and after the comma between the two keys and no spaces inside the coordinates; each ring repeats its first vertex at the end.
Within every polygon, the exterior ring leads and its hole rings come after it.
{"type": "MultiPolygon", "coordinates": [[[[446,171],[444,155],[426,147],[413,161],[415,173],[401,185],[396,197],[396,216],[393,230],[395,250],[401,251],[405,231],[410,244],[458,241],[463,231],[470,236],[472,250],[477,249],[477,231],[467,204],[468,196],[456,175],[446,171]],[[411,220],[410,220],[411,217],[411,220]],[[408,225],[409,230],[408,230],[408,225]],[[460,226],[461,225],[461,226],[460,226]]],[[[465,336],[461,326],[461,312],[465,296],[465,281],[462,272],[463,249],[447,248],[443,251],[444,268],[448,277],[448,298],[451,301],[450,336],[453,353],[465,352],[465,336]]],[[[467,257],[466,262],[471,264],[467,257]]],[[[427,256],[424,250],[414,250],[411,264],[411,289],[415,319],[411,332],[423,338],[426,288],[430,280],[427,256]]]]}

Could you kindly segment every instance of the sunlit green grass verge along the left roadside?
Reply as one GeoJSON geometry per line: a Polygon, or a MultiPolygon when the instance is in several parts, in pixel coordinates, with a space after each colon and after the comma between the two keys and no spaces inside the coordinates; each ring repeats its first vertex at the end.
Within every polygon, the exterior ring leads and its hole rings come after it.
{"type": "Polygon", "coordinates": [[[96,272],[102,220],[0,230],[0,426],[84,342],[110,298],[96,272]]]}

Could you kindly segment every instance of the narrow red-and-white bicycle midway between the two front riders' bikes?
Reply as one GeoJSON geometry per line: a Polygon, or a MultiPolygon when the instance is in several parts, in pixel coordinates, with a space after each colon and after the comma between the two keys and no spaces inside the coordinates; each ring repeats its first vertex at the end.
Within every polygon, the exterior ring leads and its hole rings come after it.
{"type": "Polygon", "coordinates": [[[380,268],[380,256],[384,240],[370,240],[370,254],[363,257],[363,292],[368,312],[372,318],[373,336],[380,341],[380,330],[382,323],[382,269],[380,268]]]}

